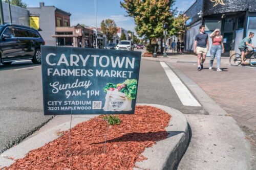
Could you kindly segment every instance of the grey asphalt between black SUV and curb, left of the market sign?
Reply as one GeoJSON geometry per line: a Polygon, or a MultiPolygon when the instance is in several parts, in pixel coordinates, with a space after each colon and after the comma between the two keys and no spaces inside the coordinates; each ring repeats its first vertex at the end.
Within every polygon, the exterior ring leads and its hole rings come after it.
{"type": "Polygon", "coordinates": [[[0,66],[0,153],[52,116],[42,113],[41,67],[29,62],[0,66]]]}

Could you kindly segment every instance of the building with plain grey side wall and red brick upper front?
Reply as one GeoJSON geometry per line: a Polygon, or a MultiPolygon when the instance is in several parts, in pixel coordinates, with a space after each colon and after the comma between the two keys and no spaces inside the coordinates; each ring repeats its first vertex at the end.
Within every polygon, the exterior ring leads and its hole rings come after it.
{"type": "Polygon", "coordinates": [[[39,16],[40,34],[46,45],[56,45],[56,39],[53,37],[56,27],[70,27],[71,14],[69,12],[54,6],[45,6],[45,3],[39,3],[39,7],[27,9],[30,15],[39,16]]]}

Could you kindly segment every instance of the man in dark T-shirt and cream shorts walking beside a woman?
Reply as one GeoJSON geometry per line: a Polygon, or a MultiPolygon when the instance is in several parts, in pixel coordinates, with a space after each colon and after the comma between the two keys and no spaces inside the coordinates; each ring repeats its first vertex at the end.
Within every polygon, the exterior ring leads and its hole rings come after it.
{"type": "Polygon", "coordinates": [[[208,34],[204,32],[205,26],[200,26],[200,33],[196,35],[194,43],[194,53],[197,54],[197,70],[201,71],[204,68],[203,63],[205,61],[206,54],[209,50],[208,34]],[[201,60],[202,58],[202,60],[201,60]]]}

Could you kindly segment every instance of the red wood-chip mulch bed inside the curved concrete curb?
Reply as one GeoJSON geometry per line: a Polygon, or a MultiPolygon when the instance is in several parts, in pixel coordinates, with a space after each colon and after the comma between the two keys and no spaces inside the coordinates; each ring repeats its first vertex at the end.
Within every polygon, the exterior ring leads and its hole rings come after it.
{"type": "MultiPolygon", "coordinates": [[[[102,117],[102,116],[99,116],[102,117]]],[[[109,126],[105,146],[105,120],[90,119],[44,147],[29,152],[7,169],[133,169],[136,161],[147,159],[141,153],[156,141],[165,139],[170,115],[151,106],[136,106],[134,115],[119,115],[120,125],[109,126]]]]}

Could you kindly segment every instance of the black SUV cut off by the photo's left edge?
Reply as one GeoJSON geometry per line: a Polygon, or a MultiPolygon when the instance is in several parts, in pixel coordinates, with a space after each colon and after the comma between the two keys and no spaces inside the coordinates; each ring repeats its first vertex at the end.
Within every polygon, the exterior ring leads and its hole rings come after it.
{"type": "Polygon", "coordinates": [[[13,61],[31,59],[41,63],[40,45],[45,45],[39,32],[19,25],[0,25],[0,63],[9,65],[13,61]]]}

